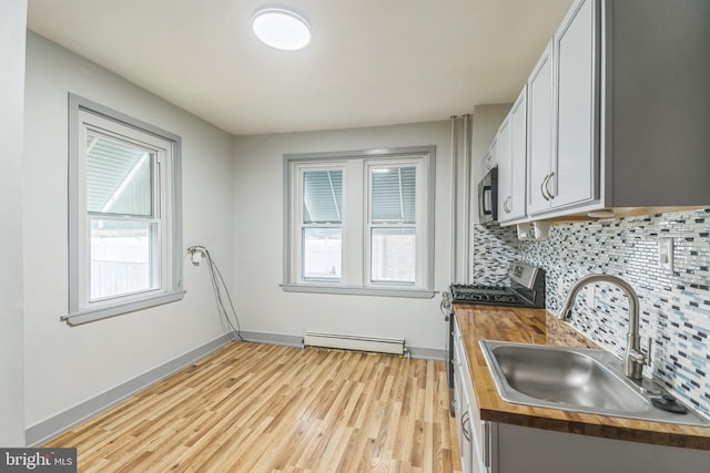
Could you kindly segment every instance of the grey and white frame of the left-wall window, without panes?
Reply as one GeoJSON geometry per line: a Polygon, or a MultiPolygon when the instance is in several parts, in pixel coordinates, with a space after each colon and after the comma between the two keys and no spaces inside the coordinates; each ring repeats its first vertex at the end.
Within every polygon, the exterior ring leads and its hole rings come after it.
{"type": "MultiPolygon", "coordinates": [[[[182,289],[182,176],[179,135],[133,119],[99,103],[69,94],[69,310],[62,320],[71,326],[101,320],[150,307],[181,300],[182,289]],[[152,269],[160,271],[156,288],[132,294],[116,295],[91,300],[89,235],[91,220],[87,205],[87,156],[84,154],[88,131],[106,137],[144,145],[156,153],[151,195],[159,215],[156,238],[160,251],[152,269]]],[[[106,215],[109,213],[99,213],[106,215]]],[[[121,215],[114,217],[122,220],[121,215]]],[[[125,218],[123,222],[133,220],[125,218]]]]}

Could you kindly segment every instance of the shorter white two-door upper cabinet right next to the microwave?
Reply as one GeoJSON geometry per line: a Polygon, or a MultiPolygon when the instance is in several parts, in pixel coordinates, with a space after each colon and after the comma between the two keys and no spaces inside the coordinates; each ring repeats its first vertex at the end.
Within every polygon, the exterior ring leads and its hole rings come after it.
{"type": "Polygon", "coordinates": [[[497,135],[498,220],[514,224],[527,218],[527,89],[518,95],[497,135]]]}

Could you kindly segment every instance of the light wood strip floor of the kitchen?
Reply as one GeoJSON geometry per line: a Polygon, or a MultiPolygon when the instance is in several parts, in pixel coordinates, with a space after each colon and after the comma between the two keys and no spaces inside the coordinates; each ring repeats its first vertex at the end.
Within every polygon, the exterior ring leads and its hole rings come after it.
{"type": "Polygon", "coordinates": [[[233,342],[42,446],[80,472],[458,472],[443,361],[233,342]]]}

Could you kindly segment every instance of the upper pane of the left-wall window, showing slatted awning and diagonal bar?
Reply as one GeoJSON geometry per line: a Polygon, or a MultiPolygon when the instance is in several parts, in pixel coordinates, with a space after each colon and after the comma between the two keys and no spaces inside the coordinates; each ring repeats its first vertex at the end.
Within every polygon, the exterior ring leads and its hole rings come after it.
{"type": "Polygon", "coordinates": [[[133,143],[87,134],[87,210],[152,216],[152,153],[133,143]]]}

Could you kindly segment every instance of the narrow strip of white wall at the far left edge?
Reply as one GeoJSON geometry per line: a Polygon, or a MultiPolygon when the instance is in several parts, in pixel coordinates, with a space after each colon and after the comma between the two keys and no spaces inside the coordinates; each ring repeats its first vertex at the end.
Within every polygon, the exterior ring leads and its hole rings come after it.
{"type": "Polygon", "coordinates": [[[27,0],[0,4],[0,445],[24,446],[22,114],[27,0]]]}

